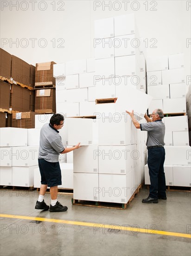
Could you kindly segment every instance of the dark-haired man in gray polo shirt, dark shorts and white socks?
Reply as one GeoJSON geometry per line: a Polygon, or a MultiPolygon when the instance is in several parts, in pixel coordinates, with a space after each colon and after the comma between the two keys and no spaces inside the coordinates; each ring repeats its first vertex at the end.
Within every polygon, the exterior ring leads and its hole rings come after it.
{"type": "Polygon", "coordinates": [[[40,145],[38,153],[38,166],[41,175],[41,187],[35,209],[48,210],[44,197],[47,187],[50,187],[50,212],[63,212],[68,208],[57,201],[57,186],[62,185],[61,169],[58,162],[59,154],[66,154],[80,148],[80,143],[72,148],[64,148],[59,129],[64,125],[64,116],[52,115],[49,124],[40,130],[40,145]]]}

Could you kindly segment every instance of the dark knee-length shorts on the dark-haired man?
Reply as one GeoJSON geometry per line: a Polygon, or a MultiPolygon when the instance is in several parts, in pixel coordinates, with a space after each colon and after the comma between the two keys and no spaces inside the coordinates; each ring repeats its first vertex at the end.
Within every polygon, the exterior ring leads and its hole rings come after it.
{"type": "Polygon", "coordinates": [[[38,166],[41,175],[41,184],[54,187],[62,185],[62,176],[59,162],[48,162],[45,159],[38,159],[38,166]]]}

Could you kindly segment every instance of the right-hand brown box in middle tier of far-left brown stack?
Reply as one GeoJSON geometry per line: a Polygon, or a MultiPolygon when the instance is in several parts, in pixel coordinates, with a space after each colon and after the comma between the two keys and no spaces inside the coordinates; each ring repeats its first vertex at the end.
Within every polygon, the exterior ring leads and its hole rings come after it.
{"type": "Polygon", "coordinates": [[[10,106],[12,110],[20,112],[30,111],[30,96],[31,91],[20,87],[19,85],[11,86],[11,101],[10,106]]]}

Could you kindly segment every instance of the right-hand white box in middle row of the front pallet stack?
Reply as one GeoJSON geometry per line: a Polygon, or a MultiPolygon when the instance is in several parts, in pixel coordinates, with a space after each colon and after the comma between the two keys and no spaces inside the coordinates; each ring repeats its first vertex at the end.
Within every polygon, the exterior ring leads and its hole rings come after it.
{"type": "Polygon", "coordinates": [[[133,165],[132,145],[128,146],[99,146],[95,152],[99,159],[99,173],[125,175],[133,165]]]}

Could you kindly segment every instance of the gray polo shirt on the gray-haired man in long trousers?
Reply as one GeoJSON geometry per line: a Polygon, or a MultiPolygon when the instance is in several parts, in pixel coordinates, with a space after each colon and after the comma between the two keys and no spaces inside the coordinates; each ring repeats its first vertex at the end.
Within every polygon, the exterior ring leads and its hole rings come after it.
{"type": "Polygon", "coordinates": [[[146,146],[164,146],[165,124],[160,120],[140,124],[141,131],[148,132],[146,146]]]}

